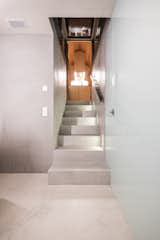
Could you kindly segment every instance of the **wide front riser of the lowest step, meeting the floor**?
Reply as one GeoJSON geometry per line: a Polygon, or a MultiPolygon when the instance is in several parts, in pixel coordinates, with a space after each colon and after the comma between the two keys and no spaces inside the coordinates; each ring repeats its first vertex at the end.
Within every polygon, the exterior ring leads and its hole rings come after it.
{"type": "Polygon", "coordinates": [[[109,185],[109,171],[54,171],[49,172],[51,185],[109,185]]]}

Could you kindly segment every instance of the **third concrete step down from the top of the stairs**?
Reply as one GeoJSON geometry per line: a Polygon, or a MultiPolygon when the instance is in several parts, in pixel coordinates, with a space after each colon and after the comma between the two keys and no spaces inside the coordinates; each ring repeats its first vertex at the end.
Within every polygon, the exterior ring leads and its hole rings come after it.
{"type": "Polygon", "coordinates": [[[95,117],[63,117],[62,125],[89,125],[95,126],[97,120],[95,117]]]}

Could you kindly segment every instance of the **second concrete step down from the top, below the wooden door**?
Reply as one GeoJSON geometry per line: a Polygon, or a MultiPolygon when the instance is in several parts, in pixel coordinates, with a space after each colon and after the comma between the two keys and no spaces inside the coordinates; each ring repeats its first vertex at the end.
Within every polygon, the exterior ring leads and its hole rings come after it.
{"type": "Polygon", "coordinates": [[[96,111],[95,110],[90,110],[90,111],[65,111],[64,112],[64,117],[95,117],[96,116],[96,111]]]}

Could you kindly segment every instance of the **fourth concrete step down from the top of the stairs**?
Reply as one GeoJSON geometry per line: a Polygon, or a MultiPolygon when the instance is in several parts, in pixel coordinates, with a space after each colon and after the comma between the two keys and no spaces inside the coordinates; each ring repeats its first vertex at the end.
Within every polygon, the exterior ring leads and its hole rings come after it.
{"type": "Polygon", "coordinates": [[[60,135],[99,135],[98,126],[68,126],[61,125],[60,135]]]}

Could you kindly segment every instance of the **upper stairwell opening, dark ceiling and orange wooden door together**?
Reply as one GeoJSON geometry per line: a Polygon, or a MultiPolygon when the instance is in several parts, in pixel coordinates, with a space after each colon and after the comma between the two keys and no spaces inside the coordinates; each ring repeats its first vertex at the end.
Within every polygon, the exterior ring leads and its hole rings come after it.
{"type": "Polygon", "coordinates": [[[97,90],[98,86],[92,69],[103,28],[108,20],[105,18],[50,18],[66,66],[66,102],[90,103],[93,101],[93,90],[97,90]],[[96,87],[93,87],[95,84],[96,87]]]}

